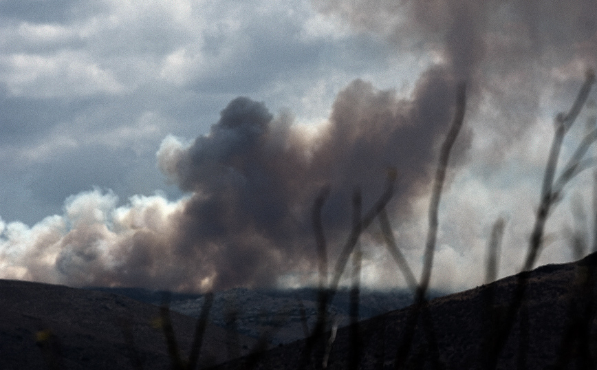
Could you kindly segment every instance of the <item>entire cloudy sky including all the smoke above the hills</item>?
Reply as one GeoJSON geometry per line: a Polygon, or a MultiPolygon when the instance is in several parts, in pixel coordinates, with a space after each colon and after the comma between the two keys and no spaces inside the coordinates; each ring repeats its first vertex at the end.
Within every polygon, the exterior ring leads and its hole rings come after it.
{"type": "MultiPolygon", "coordinates": [[[[528,246],[554,117],[597,66],[595,0],[0,0],[0,278],[180,291],[318,281],[388,168],[420,274],[439,147],[466,84],[432,286],[484,283],[528,246]]],[[[597,114],[595,91],[560,164],[597,114]]],[[[587,157],[594,157],[589,150],[587,157]]],[[[593,172],[538,264],[592,248],[593,172]],[[576,240],[576,243],[574,242],[576,240]],[[576,246],[576,247],[574,247],[576,246]]],[[[404,286],[373,222],[361,281],[404,286]]],[[[330,267],[330,270],[332,268],[330,267]]],[[[346,272],[349,276],[350,272],[346,272]]]]}

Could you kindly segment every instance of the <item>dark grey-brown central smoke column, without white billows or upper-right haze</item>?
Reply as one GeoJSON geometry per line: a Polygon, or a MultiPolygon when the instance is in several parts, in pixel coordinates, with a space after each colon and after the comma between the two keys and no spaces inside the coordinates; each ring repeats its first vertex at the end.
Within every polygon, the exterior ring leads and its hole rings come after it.
{"type": "Polygon", "coordinates": [[[181,283],[191,275],[216,288],[271,285],[314,268],[310,210],[317,193],[332,188],[323,218],[334,255],[349,230],[351,192],[360,186],[369,206],[390,166],[399,179],[393,207],[408,217],[411,197],[427,190],[451,120],[455,81],[446,76],[430,69],[408,100],[356,80],[336,98],[327,127],[307,142],[287,118],[274,119],[263,103],[241,97],[190,146],[164,144],[162,171],[192,192],[171,240],[188,263],[181,283]]]}

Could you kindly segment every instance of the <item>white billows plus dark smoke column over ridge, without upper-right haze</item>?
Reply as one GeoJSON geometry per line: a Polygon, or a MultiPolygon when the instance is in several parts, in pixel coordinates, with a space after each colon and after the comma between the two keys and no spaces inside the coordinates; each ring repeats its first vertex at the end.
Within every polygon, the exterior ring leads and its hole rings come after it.
{"type": "MultiPolygon", "coordinates": [[[[32,228],[3,224],[3,277],[206,290],[308,276],[316,267],[311,208],[323,186],[332,189],[323,210],[332,258],[350,228],[354,187],[369,206],[389,166],[398,169],[393,211],[409,217],[411,198],[427,190],[433,173],[455,83],[431,68],[409,98],[399,98],[355,80],[310,140],[290,116],[236,98],[207,135],[191,143],[168,137],[160,146],[160,170],[187,197],[138,196],[117,207],[115,195],[96,189],[32,228]]],[[[470,135],[463,153],[468,142],[470,135]]]]}

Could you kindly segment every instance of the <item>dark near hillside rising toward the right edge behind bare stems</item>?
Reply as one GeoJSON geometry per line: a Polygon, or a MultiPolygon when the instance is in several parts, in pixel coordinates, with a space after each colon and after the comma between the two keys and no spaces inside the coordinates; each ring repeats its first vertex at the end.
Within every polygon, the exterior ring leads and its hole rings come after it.
{"type": "MultiPolygon", "coordinates": [[[[528,274],[522,320],[514,319],[512,332],[497,360],[497,369],[589,369],[597,355],[594,324],[594,279],[597,256],[576,263],[545,265],[528,274]],[[594,276],[593,276],[594,278],[594,276]],[[574,325],[580,330],[573,331],[574,325]],[[583,331],[583,329],[585,329],[583,331]],[[567,336],[567,339],[564,337],[567,336]],[[575,340],[578,339],[578,340],[575,340]],[[520,365],[520,366],[519,366],[520,365]]],[[[597,272],[595,272],[597,274],[597,272]]],[[[496,338],[505,326],[519,275],[473,290],[436,298],[428,314],[419,316],[403,369],[482,369],[490,359],[483,343],[496,338]],[[490,307],[490,309],[488,309],[490,307]],[[426,318],[426,320],[422,319],[426,318]],[[426,323],[426,324],[425,324],[426,323]],[[431,330],[429,330],[431,328],[431,330]],[[429,333],[432,335],[430,336],[429,333]],[[429,338],[435,338],[436,346],[429,338]],[[435,367],[437,365],[437,367],[435,367]]],[[[354,369],[393,369],[398,347],[412,310],[400,309],[359,325],[358,366],[354,369]]],[[[349,369],[355,353],[350,328],[338,329],[329,351],[328,369],[349,369]]],[[[320,369],[329,333],[314,346],[305,364],[306,341],[300,340],[259,356],[228,362],[217,369],[320,369]]]]}

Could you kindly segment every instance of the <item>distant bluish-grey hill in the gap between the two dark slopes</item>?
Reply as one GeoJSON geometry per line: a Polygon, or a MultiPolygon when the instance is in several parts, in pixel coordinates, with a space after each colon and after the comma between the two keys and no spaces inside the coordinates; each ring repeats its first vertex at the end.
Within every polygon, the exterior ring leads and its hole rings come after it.
{"type": "MultiPolygon", "coordinates": [[[[112,292],[128,296],[153,305],[160,305],[164,299],[161,291],[140,288],[93,287],[92,290],[112,292]]],[[[202,294],[168,293],[170,309],[197,318],[204,304],[202,294]]],[[[432,291],[429,296],[445,295],[432,291]]],[[[328,306],[329,326],[343,327],[350,322],[349,290],[338,290],[328,306]]],[[[400,309],[413,303],[413,294],[408,290],[388,291],[363,290],[359,296],[359,319],[371,318],[400,309]]],[[[302,316],[304,314],[309,330],[317,316],[317,290],[305,287],[297,290],[250,290],[236,288],[215,293],[210,322],[219,327],[230,327],[227,314],[234,312],[235,328],[241,334],[252,338],[268,335],[273,345],[305,338],[302,316]],[[301,313],[302,312],[302,313],[301,313]]]]}

